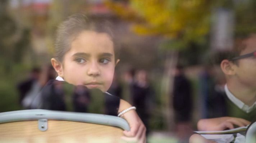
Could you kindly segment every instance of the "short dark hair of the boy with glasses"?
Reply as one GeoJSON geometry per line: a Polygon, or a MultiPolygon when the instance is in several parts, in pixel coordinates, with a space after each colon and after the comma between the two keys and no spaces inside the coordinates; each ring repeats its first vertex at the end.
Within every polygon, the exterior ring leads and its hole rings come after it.
{"type": "MultiPolygon", "coordinates": [[[[220,64],[221,61],[224,59],[230,60],[239,56],[241,52],[246,48],[246,45],[244,44],[244,40],[250,38],[252,35],[243,36],[242,38],[239,37],[235,40],[234,46],[230,50],[224,50],[224,51],[218,51],[218,52],[212,52],[211,59],[214,64],[220,64]]],[[[233,61],[235,64],[238,64],[237,61],[233,61]]]]}

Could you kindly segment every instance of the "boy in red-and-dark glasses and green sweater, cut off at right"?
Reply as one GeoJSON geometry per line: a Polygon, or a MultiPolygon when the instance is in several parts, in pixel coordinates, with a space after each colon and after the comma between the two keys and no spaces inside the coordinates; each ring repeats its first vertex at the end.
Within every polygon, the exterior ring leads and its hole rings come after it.
{"type": "MultiPolygon", "coordinates": [[[[243,127],[256,118],[256,35],[242,40],[241,44],[231,52],[222,53],[221,56],[223,57],[220,68],[227,81],[225,85],[227,115],[199,120],[197,128],[200,131],[243,127]]],[[[195,142],[195,138],[201,136],[192,135],[190,142],[195,142]]],[[[210,141],[205,140],[205,142],[210,141]]]]}

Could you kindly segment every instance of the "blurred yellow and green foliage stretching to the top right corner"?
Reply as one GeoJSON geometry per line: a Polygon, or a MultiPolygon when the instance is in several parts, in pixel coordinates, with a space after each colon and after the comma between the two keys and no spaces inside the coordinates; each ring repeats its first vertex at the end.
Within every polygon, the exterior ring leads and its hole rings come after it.
{"type": "Polygon", "coordinates": [[[169,39],[161,45],[164,49],[206,44],[210,15],[218,8],[234,11],[236,35],[256,32],[255,0],[130,0],[126,5],[109,2],[108,6],[121,18],[132,21],[135,33],[169,39]]]}

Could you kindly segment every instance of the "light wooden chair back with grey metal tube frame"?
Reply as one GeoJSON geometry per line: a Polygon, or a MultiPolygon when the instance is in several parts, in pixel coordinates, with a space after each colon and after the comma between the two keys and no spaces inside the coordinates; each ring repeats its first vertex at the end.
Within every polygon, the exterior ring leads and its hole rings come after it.
{"type": "Polygon", "coordinates": [[[103,114],[42,109],[0,113],[0,142],[113,143],[119,142],[126,120],[103,114]]]}

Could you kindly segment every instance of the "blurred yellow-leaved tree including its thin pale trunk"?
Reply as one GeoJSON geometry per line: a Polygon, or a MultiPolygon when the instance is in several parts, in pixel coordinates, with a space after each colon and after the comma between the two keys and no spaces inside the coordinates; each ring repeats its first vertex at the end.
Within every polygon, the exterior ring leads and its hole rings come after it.
{"type": "MultiPolygon", "coordinates": [[[[106,4],[121,18],[131,21],[135,33],[160,35],[165,39],[161,45],[166,50],[162,81],[166,104],[162,112],[170,121],[169,97],[173,79],[169,71],[177,64],[180,49],[191,43],[205,43],[210,29],[212,3],[207,0],[130,0],[129,3],[108,1],[106,4]]],[[[169,124],[168,129],[171,126],[169,124]]]]}

